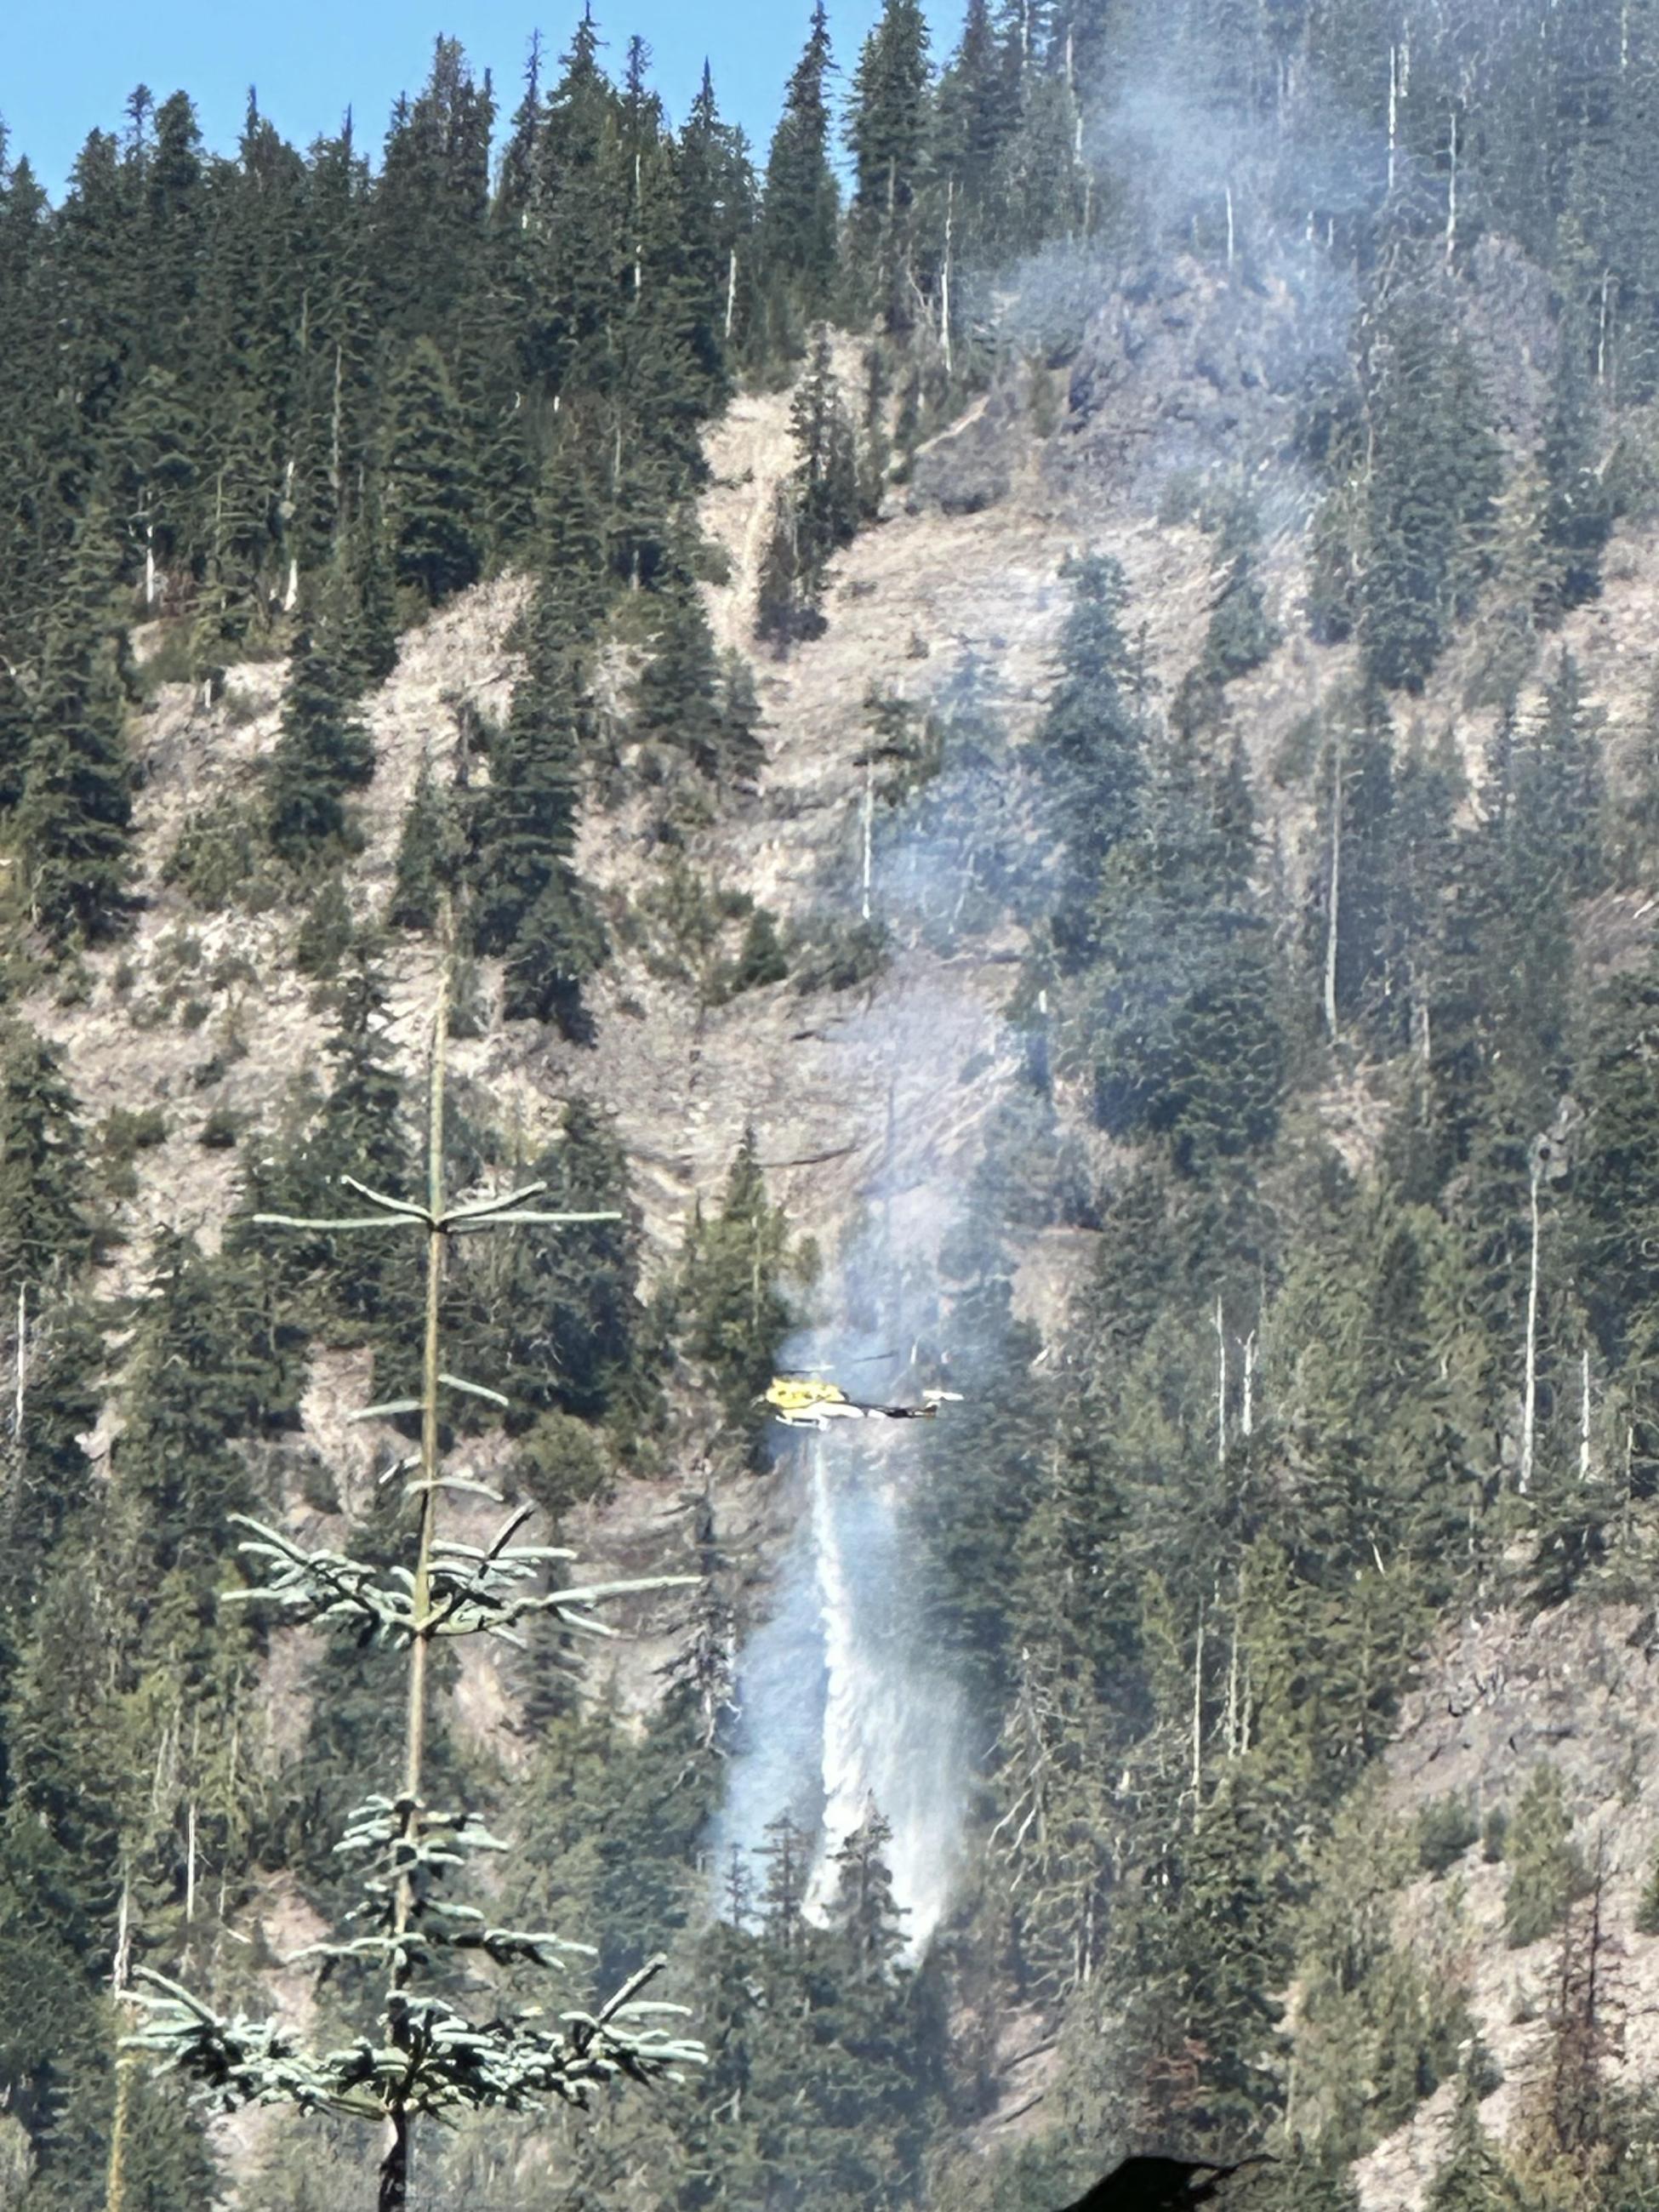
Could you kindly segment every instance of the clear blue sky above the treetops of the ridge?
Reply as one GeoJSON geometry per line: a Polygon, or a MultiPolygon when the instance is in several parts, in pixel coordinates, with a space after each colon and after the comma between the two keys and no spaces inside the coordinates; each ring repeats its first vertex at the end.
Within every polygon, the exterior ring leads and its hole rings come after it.
{"type": "MultiPolygon", "coordinates": [[[[595,0],[595,18],[619,64],[630,33],[655,53],[655,82],[675,119],[697,91],[703,53],[728,119],[759,148],[776,119],[783,80],[805,40],[812,0],[595,0]]],[[[91,128],[117,128],[135,84],[157,100],[186,91],[210,146],[228,148],[241,126],[248,86],[259,106],[299,146],[338,126],[349,106],[365,146],[378,148],[392,102],[416,91],[434,38],[462,40],[476,69],[495,73],[502,106],[518,104],[524,49],[538,24],[564,49],[580,0],[276,0],[237,7],[226,0],[35,0],[7,24],[0,64],[0,117],[13,159],[29,155],[53,199],[91,128]]],[[[880,0],[830,0],[836,60],[852,69],[880,0]]],[[[960,29],[962,0],[929,7],[942,53],[960,29]]]]}

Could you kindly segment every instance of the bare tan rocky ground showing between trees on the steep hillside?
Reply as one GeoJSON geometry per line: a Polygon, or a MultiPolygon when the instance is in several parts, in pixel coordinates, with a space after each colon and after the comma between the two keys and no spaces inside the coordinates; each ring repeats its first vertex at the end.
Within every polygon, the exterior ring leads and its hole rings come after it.
{"type": "MultiPolygon", "coordinates": [[[[1506,303],[1520,281],[1506,263],[1489,272],[1500,330],[1502,314],[1515,312],[1506,303]]],[[[1148,672],[1172,692],[1203,635],[1210,544],[1190,522],[1159,520],[1168,478],[1175,469],[1276,462],[1265,573],[1287,641],[1232,688],[1230,712],[1261,770],[1263,867],[1296,880],[1314,856],[1301,801],[1274,779],[1274,761],[1298,719],[1352,672],[1347,650],[1307,644],[1296,619],[1307,502],[1285,456],[1294,378],[1312,349],[1332,343],[1329,325],[1329,303],[1310,303],[1294,285],[1245,294],[1177,265],[1152,292],[1126,288],[1104,301],[1064,367],[1011,369],[969,420],[920,453],[914,482],[891,491],[883,520],[838,560],[827,633],[787,661],[757,664],[765,714],[759,787],[686,834],[684,865],[719,889],[748,894],[783,925],[805,922],[825,885],[847,887],[860,867],[858,752],[872,686],[927,706],[975,661],[989,670],[1013,739],[1022,739],[1044,697],[1064,611],[1060,568],[1082,546],[1124,564],[1146,624],[1148,672]]],[[[1533,365],[1522,361],[1511,383],[1515,427],[1537,405],[1533,365]]],[[[710,613],[719,639],[743,650],[763,524],[790,458],[787,394],[739,398],[710,438],[703,524],[730,564],[730,580],[708,586],[710,613]]],[[[1641,743],[1659,668],[1655,588],[1659,524],[1626,526],[1608,557],[1604,597],[1577,611],[1562,639],[1608,717],[1615,763],[1641,743]]],[[[352,883],[365,909],[385,898],[420,763],[453,761],[462,708],[504,710],[520,604],[515,580],[465,595],[405,637],[396,672],[374,697],[378,768],[352,883]]],[[[1429,692],[1400,706],[1400,726],[1425,741],[1451,732],[1473,763],[1489,710],[1464,703],[1469,681],[1471,668],[1449,655],[1429,692]]],[[[24,1009],[62,1044],[91,1117],[117,1104],[157,1106],[166,1117],[166,1141],[137,1159],[111,1290],[139,1281],[157,1228],[188,1228],[206,1241],[217,1234],[234,1155],[201,1144],[208,1119],[228,1108],[246,1124],[270,1121],[292,1075],[316,1064],[323,1018],[292,964],[296,916],[201,914],[161,880],[181,827],[254,776],[276,737],[279,690],[276,666],[232,670],[215,710],[184,686],[159,690],[137,732],[146,774],[137,929],[88,960],[77,989],[24,1009]]],[[[582,869],[611,920],[633,916],[633,927],[613,927],[617,956],[593,989],[595,1040],[568,1046],[491,1018],[456,1046],[458,1073],[531,1137],[557,1126],[571,1093],[602,1102],[624,1139],[657,1267],[679,1248],[692,1208],[717,1197],[745,1126],[759,1133],[774,1197],[796,1230],[834,1250],[880,1190],[925,1261],[964,1188],[975,1135],[1015,1073],[1002,1006],[1018,936],[967,933],[947,953],[925,931],[898,931],[887,969],[858,989],[803,993],[781,982],[706,1004],[675,973],[672,947],[650,916],[648,894],[661,874],[657,801],[628,774],[635,761],[619,721],[617,748],[619,774],[586,818],[582,869]]],[[[1040,863],[1042,854],[1031,854],[1031,865],[1040,863]]],[[[1650,927],[1637,902],[1610,902],[1604,920],[1610,960],[1628,958],[1650,927]]],[[[392,975],[398,1040],[414,1068],[434,982],[429,951],[394,945],[392,975]]],[[[1365,1068],[1334,1086],[1327,1119],[1340,1148],[1363,1159],[1378,1128],[1365,1068]]],[[[1020,1285],[1046,1336],[1062,1329],[1086,1259],[1086,1232],[1033,1241],[1020,1285]]],[[[341,1469],[347,1502],[369,1482],[372,1444],[345,1425],[361,1385],[352,1363],[323,1360],[305,1402],[307,1442],[341,1469]]],[[[602,1557],[661,1559],[690,1540],[679,1504],[675,1480],[619,1484],[582,1540],[602,1557]]],[[[768,1515],[776,1522],[779,1511],[776,1493],[745,1484],[741,1513],[761,1522],[757,1573],[768,1515]]],[[[622,1661],[624,1701],[635,1705],[650,1694],[677,1617],[664,1608],[637,1626],[641,1637],[622,1661]]],[[[1632,1641],[1632,1626],[1630,1615],[1568,1610],[1471,1628],[1427,1668],[1400,1723],[1387,1787],[1409,1814],[1449,1790],[1482,1803],[1513,1796],[1517,1776],[1542,1754],[1562,1767],[1586,1845],[1606,1854],[1608,1913],[1624,1949],[1624,2064],[1641,2068],[1659,2057],[1659,1942],[1632,1933],[1632,1913],[1659,1843],[1659,1778],[1650,1652],[1632,1641]]],[[[283,1703],[292,1714],[288,1692],[283,1703]]],[[[487,1663],[465,1670],[458,1712],[511,1756],[509,1690],[487,1663]]],[[[292,1933],[288,1920],[292,1900],[272,1898],[272,1947],[292,1933]]],[[[1502,1871],[1478,1854],[1460,1869],[1455,1896],[1425,1880],[1405,1907],[1425,1955],[1455,1955],[1467,1971],[1471,2011],[1504,2070],[1491,2112],[1498,2128],[1526,2095],[1551,1969],[1551,1947],[1506,1951],[1500,1922],[1502,1871]]],[[[1009,2119],[1022,2099],[1020,2066],[1037,2042],[1029,2026],[1004,2037],[1009,2119]]],[[[1420,2203],[1447,2097],[1431,2099],[1365,2161],[1371,2212],[1420,2203]]]]}

